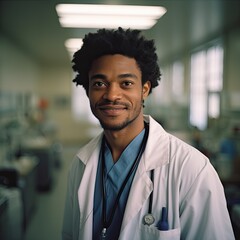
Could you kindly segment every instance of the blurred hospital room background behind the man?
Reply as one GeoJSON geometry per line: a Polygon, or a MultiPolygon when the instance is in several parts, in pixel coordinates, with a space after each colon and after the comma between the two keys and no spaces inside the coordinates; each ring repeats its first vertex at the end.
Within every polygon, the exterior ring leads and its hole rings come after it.
{"type": "Polygon", "coordinates": [[[64,27],[60,3],[164,7],[143,29],[162,71],[144,112],[208,156],[240,239],[238,0],[0,1],[0,239],[60,239],[69,165],[101,131],[71,69],[98,27],[64,27]]]}

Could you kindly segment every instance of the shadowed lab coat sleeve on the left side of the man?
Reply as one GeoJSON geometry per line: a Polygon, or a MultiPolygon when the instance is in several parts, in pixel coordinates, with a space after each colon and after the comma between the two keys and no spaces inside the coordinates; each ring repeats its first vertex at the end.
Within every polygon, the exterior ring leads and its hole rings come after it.
{"type": "Polygon", "coordinates": [[[77,192],[83,172],[83,164],[78,158],[74,159],[68,174],[62,240],[78,239],[80,213],[77,192]]]}

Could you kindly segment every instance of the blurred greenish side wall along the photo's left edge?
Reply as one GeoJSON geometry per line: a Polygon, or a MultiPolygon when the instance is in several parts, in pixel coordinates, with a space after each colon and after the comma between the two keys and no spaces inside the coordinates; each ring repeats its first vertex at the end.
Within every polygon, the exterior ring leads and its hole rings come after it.
{"type": "Polygon", "coordinates": [[[39,67],[10,39],[0,35],[0,162],[11,159],[23,137],[16,120],[23,116],[23,99],[37,91],[39,67]]]}

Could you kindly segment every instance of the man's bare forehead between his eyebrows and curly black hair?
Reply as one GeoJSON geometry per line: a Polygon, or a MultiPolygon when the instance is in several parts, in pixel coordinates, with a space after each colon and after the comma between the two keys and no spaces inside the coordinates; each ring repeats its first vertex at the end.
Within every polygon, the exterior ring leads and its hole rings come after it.
{"type": "Polygon", "coordinates": [[[121,54],[104,55],[95,59],[90,68],[90,74],[93,72],[126,72],[140,74],[140,68],[134,58],[121,54]]]}

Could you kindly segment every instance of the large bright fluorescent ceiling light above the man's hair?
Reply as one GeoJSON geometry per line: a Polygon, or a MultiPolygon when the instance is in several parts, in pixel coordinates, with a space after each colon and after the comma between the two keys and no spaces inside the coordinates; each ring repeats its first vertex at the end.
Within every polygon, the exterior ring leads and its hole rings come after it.
{"type": "Polygon", "coordinates": [[[166,13],[160,6],[58,4],[63,27],[149,29],[166,13]]]}

